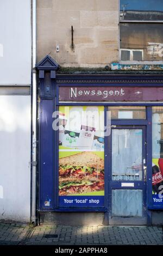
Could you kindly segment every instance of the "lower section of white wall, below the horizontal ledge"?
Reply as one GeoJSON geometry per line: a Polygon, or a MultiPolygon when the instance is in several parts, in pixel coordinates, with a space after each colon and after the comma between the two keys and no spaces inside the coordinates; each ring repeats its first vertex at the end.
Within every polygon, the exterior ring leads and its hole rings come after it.
{"type": "Polygon", "coordinates": [[[0,221],[30,221],[30,96],[0,96],[0,221]]]}

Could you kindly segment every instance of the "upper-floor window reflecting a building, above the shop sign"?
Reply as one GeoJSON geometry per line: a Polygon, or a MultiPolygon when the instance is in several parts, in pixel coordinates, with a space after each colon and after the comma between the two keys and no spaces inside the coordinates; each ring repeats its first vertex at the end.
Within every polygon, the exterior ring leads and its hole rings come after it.
{"type": "Polygon", "coordinates": [[[122,61],[163,60],[162,0],[120,0],[122,61]]]}

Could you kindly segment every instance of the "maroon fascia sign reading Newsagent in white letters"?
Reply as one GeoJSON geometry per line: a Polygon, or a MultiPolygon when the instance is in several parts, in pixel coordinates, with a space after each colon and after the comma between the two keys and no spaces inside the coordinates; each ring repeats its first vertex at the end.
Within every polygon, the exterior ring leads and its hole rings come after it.
{"type": "Polygon", "coordinates": [[[61,86],[59,101],[163,101],[163,88],[61,86]]]}

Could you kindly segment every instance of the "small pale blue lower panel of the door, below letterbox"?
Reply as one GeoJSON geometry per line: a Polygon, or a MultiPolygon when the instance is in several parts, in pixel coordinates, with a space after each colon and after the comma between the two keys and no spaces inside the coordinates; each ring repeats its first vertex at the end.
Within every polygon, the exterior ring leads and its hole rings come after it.
{"type": "Polygon", "coordinates": [[[112,190],[112,216],[141,217],[142,190],[112,190]]]}

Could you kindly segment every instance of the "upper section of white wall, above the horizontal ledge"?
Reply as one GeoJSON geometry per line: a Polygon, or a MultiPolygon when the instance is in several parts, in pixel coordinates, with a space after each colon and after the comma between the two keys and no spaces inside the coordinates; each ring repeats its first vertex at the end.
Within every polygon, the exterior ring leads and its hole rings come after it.
{"type": "Polygon", "coordinates": [[[31,83],[30,0],[0,1],[0,85],[31,83]]]}

